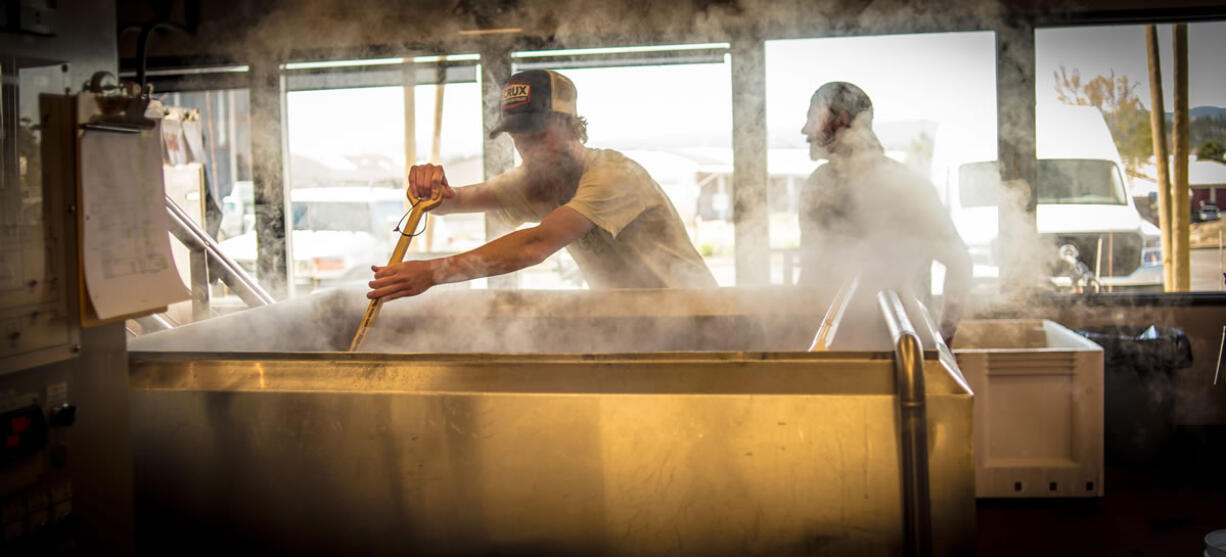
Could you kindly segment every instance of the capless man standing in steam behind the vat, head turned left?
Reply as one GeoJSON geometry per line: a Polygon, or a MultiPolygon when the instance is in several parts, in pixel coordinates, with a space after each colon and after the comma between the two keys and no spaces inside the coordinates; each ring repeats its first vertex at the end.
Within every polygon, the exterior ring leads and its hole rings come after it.
{"type": "Polygon", "coordinates": [[[801,193],[799,282],[859,276],[864,290],[900,288],[927,301],[931,265],[939,261],[945,266],[940,335],[951,342],[971,285],[971,258],[933,185],[885,156],[868,94],[852,83],[823,85],[801,133],[809,158],[828,162],[801,193]]]}

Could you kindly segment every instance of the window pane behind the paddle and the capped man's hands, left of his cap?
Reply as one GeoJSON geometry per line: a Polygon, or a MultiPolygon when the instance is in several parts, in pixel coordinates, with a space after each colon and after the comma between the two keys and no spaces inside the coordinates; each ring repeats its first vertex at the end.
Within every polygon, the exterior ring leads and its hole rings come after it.
{"type": "MultiPolygon", "coordinates": [[[[481,182],[474,56],[451,58],[454,66],[441,74],[436,56],[287,65],[295,294],[364,282],[370,265],[387,263],[408,210],[408,166],[433,161],[454,185],[481,182]]],[[[456,253],[484,239],[481,215],[432,215],[407,258],[456,253]]]]}

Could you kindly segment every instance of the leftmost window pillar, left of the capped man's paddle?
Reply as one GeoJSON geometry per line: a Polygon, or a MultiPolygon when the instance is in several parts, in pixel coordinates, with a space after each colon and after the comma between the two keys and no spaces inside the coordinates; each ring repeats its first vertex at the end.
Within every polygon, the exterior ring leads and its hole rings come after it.
{"type": "Polygon", "coordinates": [[[284,299],[292,287],[286,234],[284,80],[273,60],[254,61],[250,75],[256,276],[268,293],[284,299]]]}

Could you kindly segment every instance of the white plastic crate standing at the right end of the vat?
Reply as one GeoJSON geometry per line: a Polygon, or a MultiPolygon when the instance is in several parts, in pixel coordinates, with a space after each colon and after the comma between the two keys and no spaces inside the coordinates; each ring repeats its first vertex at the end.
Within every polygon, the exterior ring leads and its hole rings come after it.
{"type": "Polygon", "coordinates": [[[1102,496],[1102,348],[1057,323],[964,321],[976,497],[1102,496]]]}

